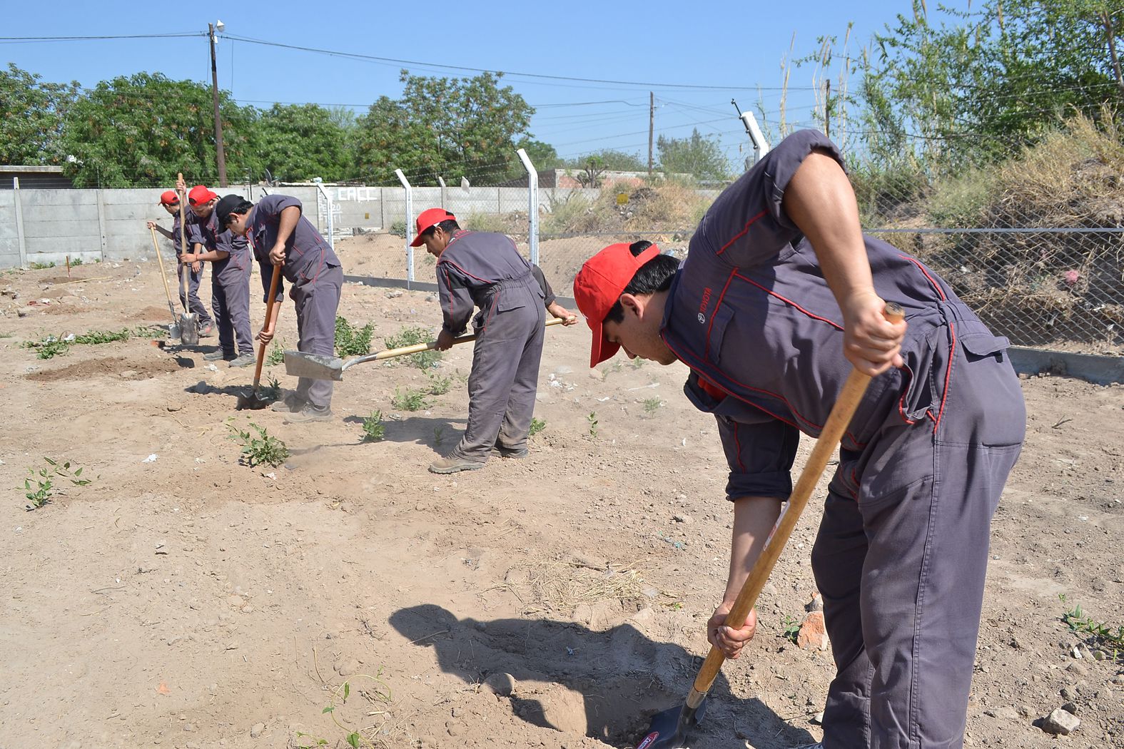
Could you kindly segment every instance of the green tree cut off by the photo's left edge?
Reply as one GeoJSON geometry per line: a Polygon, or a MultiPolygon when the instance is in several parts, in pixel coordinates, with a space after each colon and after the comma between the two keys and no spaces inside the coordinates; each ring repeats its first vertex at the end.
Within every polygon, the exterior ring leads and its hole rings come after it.
{"type": "Polygon", "coordinates": [[[8,63],[0,70],[0,164],[60,164],[66,111],[79,97],[78,81],[44,83],[8,63]]]}

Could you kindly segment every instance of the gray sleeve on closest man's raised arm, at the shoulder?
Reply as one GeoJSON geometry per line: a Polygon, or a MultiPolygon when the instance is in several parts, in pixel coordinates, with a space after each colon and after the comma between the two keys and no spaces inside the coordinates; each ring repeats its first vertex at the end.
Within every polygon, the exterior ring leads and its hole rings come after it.
{"type": "Polygon", "coordinates": [[[769,262],[801,236],[782,202],[792,175],[813,150],[823,150],[843,165],[839,148],[823,133],[794,133],[718,197],[697,234],[733,266],[769,262]]]}

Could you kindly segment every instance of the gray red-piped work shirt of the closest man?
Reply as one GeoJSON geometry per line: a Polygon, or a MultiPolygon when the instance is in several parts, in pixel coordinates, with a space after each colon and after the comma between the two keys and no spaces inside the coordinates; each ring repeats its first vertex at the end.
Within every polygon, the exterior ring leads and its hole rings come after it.
{"type": "MultiPolygon", "coordinates": [[[[787,497],[799,433],[819,435],[852,366],[843,316],[810,243],[781,201],[814,149],[842,156],[815,130],[796,133],[727,188],[704,216],[672,283],[661,336],[691,368],[687,396],[718,420],[727,495],[787,497]]],[[[940,419],[927,398],[934,350],[987,356],[996,338],[933,271],[863,237],[874,291],[906,310],[905,366],[874,378],[843,438],[862,450],[888,423],[940,419]]]]}

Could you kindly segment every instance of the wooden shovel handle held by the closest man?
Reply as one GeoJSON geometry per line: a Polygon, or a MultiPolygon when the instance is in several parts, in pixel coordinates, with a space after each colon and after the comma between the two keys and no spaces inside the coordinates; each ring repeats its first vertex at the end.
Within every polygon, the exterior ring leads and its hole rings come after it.
{"type": "MultiPolygon", "coordinates": [[[[890,302],[886,305],[885,314],[886,319],[890,322],[899,322],[905,317],[905,311],[898,304],[890,302]]],[[[777,528],[765,544],[765,548],[761,551],[761,556],[758,557],[756,563],[754,563],[753,569],[750,570],[750,576],[745,578],[745,583],[742,585],[742,591],[737,594],[734,605],[731,608],[729,613],[726,614],[726,621],[731,627],[737,629],[745,624],[745,619],[750,615],[750,611],[752,611],[754,604],[756,604],[761,588],[764,587],[770,573],[772,573],[773,567],[777,565],[780,552],[785,550],[785,544],[788,542],[789,536],[792,535],[792,530],[800,519],[800,513],[804,512],[805,505],[808,504],[808,497],[812,496],[816,484],[819,483],[819,477],[823,475],[824,468],[827,467],[827,462],[831,459],[832,454],[835,453],[835,446],[843,438],[843,432],[846,431],[847,424],[851,423],[851,417],[854,415],[855,409],[859,408],[859,402],[862,401],[862,396],[865,394],[867,385],[869,384],[869,375],[864,375],[858,369],[851,371],[846,383],[843,385],[843,390],[840,391],[835,405],[832,407],[832,412],[827,417],[827,423],[824,424],[823,430],[819,432],[819,439],[816,440],[816,446],[812,449],[812,455],[808,456],[808,462],[804,464],[804,471],[800,472],[800,477],[792,488],[792,494],[788,497],[788,508],[785,510],[785,514],[781,515],[780,522],[777,523],[777,528]],[[736,624],[732,622],[736,622],[736,624]]],[[[722,650],[710,646],[710,652],[707,654],[706,660],[703,661],[703,667],[699,668],[699,674],[695,678],[695,688],[691,696],[695,694],[705,696],[710,691],[710,685],[714,684],[715,677],[718,676],[718,670],[722,668],[725,659],[722,650]]],[[[701,696],[698,698],[699,702],[701,702],[701,696]]]]}

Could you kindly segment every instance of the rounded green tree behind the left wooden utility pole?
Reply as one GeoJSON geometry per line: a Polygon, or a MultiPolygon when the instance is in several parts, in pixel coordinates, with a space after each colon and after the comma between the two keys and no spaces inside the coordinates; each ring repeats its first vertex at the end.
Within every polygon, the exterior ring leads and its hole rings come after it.
{"type": "MultiPolygon", "coordinates": [[[[261,173],[252,135],[257,111],[219,92],[223,140],[229,179],[261,173]]],[[[137,73],[102,81],[66,113],[65,164],[78,185],[167,185],[176,172],[190,182],[218,182],[210,88],[137,73]]]]}

